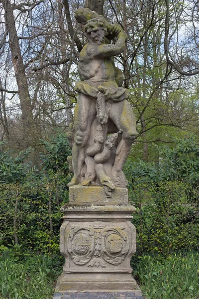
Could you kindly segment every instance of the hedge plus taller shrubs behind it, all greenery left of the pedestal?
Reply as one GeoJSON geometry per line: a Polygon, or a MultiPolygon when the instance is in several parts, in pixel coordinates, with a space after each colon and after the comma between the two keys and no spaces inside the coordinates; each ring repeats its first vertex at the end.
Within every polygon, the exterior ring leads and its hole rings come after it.
{"type": "Polygon", "coordinates": [[[6,168],[7,172],[0,188],[0,245],[7,246],[16,234],[17,242],[24,248],[52,254],[59,251],[60,206],[68,201],[70,175],[66,160],[70,150],[66,137],[61,134],[44,145],[45,167],[41,171],[25,163],[28,151],[17,157],[10,150],[1,151],[4,158],[0,170],[6,168]],[[55,168],[57,159],[59,167],[55,168]]]}

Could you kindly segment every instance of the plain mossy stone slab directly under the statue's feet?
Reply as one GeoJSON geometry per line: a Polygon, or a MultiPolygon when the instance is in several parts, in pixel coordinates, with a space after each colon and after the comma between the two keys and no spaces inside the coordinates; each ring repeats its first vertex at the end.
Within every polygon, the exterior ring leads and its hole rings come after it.
{"type": "Polygon", "coordinates": [[[106,197],[103,187],[72,186],[69,188],[69,204],[71,205],[115,205],[128,204],[128,190],[116,187],[111,192],[112,197],[106,197]]]}

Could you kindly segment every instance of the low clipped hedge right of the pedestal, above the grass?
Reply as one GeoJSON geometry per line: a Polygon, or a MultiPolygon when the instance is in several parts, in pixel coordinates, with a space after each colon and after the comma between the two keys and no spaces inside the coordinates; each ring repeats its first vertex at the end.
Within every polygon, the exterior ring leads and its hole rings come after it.
{"type": "Polygon", "coordinates": [[[199,249],[199,217],[197,208],[187,204],[188,188],[178,181],[134,187],[137,254],[168,255],[179,249],[199,249]]]}

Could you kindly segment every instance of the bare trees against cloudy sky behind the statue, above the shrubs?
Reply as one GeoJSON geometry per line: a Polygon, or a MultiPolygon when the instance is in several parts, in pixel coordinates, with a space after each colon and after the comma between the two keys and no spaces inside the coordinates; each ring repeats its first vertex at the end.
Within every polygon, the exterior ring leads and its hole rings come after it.
{"type": "Polygon", "coordinates": [[[77,23],[74,13],[84,4],[119,23],[129,37],[124,53],[116,57],[116,66],[124,73],[124,87],[130,91],[137,117],[138,142],[132,154],[138,149],[147,161],[152,143],[169,142],[175,132],[196,132],[197,3],[0,0],[3,138],[15,148],[37,147],[39,138],[65,130],[72,121],[79,52],[86,42],[84,26],[77,23]]]}

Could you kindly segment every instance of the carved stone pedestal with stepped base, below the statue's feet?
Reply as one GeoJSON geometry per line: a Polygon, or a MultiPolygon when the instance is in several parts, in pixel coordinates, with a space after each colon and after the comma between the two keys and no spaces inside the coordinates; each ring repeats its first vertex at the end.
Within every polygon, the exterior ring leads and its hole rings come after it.
{"type": "Polygon", "coordinates": [[[120,196],[115,193],[107,202],[101,196],[103,188],[96,187],[95,205],[83,205],[86,197],[93,202],[95,196],[88,198],[88,188],[70,187],[70,202],[61,208],[60,251],[66,262],[55,292],[135,290],[130,267],[136,251],[136,229],[131,223],[135,208],[127,204],[124,188],[118,188],[124,190],[123,200],[121,190],[116,190],[120,196]]]}

